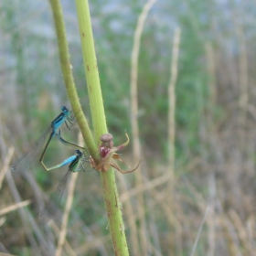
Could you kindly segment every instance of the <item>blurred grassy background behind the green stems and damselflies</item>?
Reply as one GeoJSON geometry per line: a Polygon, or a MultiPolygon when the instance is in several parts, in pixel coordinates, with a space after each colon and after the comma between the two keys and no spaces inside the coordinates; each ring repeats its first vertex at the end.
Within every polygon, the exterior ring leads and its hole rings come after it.
{"type": "MultiPolygon", "coordinates": [[[[91,120],[76,6],[61,3],[74,79],[91,120]]],[[[90,1],[108,128],[116,145],[125,141],[124,130],[130,134],[122,157],[132,167],[131,56],[145,4],[90,1]]],[[[253,1],[158,0],[151,6],[139,46],[135,99],[143,163],[133,174],[116,173],[131,255],[255,254],[255,15],[253,1]],[[176,29],[176,111],[170,126],[176,29]]],[[[67,193],[57,220],[40,226],[37,215],[67,167],[47,173],[36,162],[20,176],[10,175],[10,165],[60,107],[69,107],[48,1],[1,1],[0,37],[0,251],[54,255],[67,193]]],[[[77,143],[78,133],[63,127],[61,134],[77,143]]],[[[45,161],[57,165],[69,155],[74,150],[53,140],[45,161]]],[[[80,173],[76,181],[61,255],[113,255],[96,172],[80,173]]]]}

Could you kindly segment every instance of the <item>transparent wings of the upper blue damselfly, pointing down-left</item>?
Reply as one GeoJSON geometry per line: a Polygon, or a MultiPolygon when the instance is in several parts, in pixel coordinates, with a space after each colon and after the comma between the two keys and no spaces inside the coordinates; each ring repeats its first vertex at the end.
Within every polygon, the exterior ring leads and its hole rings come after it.
{"type": "Polygon", "coordinates": [[[48,130],[41,135],[41,137],[37,140],[35,144],[31,147],[30,151],[28,151],[25,155],[23,155],[15,165],[12,166],[13,172],[25,172],[29,168],[32,163],[37,160],[39,153],[43,145],[46,142],[48,134],[52,132],[52,127],[49,126],[48,130]]]}

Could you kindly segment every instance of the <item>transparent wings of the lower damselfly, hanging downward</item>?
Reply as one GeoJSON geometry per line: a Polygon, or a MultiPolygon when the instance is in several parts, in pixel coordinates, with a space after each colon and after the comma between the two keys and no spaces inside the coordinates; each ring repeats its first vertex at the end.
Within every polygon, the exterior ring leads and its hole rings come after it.
{"type": "Polygon", "coordinates": [[[47,223],[48,220],[54,218],[54,216],[56,215],[59,209],[61,197],[63,196],[63,192],[65,190],[65,187],[67,186],[70,174],[71,171],[69,170],[68,173],[59,182],[59,186],[57,187],[57,189],[48,198],[48,202],[46,203],[45,208],[39,213],[40,223],[47,223]]]}

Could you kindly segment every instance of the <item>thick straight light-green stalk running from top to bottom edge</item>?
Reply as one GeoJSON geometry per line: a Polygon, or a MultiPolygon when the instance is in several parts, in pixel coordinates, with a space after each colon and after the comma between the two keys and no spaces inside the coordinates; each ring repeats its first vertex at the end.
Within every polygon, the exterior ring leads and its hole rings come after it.
{"type": "MultiPolygon", "coordinates": [[[[107,133],[108,130],[91,29],[90,9],[87,0],[76,0],[76,5],[80,27],[82,56],[91,106],[93,130],[95,138],[97,138],[97,143],[99,143],[101,134],[107,133]]],[[[94,160],[97,161],[97,159],[94,160]]],[[[120,201],[112,169],[107,172],[101,172],[101,185],[108,214],[109,227],[112,233],[112,244],[115,255],[129,255],[124,233],[120,201]]]]}

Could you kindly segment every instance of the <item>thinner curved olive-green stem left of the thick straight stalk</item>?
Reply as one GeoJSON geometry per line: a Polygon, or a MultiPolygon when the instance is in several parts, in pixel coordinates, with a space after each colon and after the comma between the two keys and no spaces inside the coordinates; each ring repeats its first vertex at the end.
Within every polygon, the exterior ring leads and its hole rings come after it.
{"type": "Polygon", "coordinates": [[[68,42],[66,37],[66,29],[64,24],[62,8],[59,0],[50,0],[49,2],[51,5],[56,33],[57,33],[61,71],[63,74],[63,79],[65,82],[69,101],[70,101],[72,110],[75,114],[75,117],[79,123],[80,131],[82,133],[84,141],[87,144],[87,147],[91,155],[99,155],[98,147],[93,140],[89,124],[82,112],[78,93],[75,87],[72,70],[71,70],[71,63],[69,59],[69,48],[68,48],[68,42]]]}

